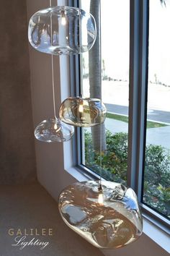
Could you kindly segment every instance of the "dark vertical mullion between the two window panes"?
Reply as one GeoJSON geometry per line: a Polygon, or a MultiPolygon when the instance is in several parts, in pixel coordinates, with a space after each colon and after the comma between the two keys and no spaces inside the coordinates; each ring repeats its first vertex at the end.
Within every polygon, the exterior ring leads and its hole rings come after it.
{"type": "Polygon", "coordinates": [[[130,1],[128,186],[141,196],[148,83],[148,1],[130,1]]]}

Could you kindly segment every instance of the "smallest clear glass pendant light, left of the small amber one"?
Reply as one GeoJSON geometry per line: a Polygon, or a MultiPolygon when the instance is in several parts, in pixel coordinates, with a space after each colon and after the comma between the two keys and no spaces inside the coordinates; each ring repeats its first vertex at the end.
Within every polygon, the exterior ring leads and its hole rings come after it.
{"type": "Polygon", "coordinates": [[[60,119],[47,119],[35,128],[35,137],[42,142],[66,142],[71,139],[74,127],[60,119]]]}

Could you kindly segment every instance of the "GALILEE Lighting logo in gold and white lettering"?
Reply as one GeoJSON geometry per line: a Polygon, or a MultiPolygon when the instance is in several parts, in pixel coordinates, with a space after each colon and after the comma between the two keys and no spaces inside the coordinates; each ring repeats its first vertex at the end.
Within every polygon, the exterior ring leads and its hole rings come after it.
{"type": "Polygon", "coordinates": [[[19,249],[26,247],[38,247],[45,249],[50,242],[49,236],[53,236],[53,229],[8,229],[8,235],[12,236],[12,246],[19,249]]]}

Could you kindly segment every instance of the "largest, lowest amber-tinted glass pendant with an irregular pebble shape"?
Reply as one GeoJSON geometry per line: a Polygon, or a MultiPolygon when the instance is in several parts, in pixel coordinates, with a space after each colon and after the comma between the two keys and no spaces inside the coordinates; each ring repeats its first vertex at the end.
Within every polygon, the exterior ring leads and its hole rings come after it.
{"type": "Polygon", "coordinates": [[[143,221],[133,189],[115,182],[77,182],[61,192],[63,221],[88,242],[120,248],[142,234],[143,221]]]}

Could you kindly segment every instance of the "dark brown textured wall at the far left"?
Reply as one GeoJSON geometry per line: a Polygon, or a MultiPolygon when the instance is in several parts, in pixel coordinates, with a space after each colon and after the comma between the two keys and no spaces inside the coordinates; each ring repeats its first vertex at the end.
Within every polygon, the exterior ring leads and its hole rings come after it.
{"type": "Polygon", "coordinates": [[[0,184],[36,179],[26,0],[1,1],[0,184]]]}

